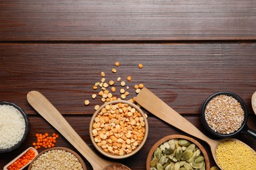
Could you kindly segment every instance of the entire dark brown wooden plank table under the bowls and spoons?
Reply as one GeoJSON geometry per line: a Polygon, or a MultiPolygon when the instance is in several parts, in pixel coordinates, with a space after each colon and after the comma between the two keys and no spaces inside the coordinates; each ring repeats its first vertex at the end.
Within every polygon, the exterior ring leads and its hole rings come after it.
{"type": "MultiPolygon", "coordinates": [[[[98,93],[93,85],[102,71],[106,80],[130,75],[127,99],[137,95],[133,86],[142,83],[209,137],[199,118],[203,101],[219,91],[237,93],[247,105],[248,126],[256,130],[251,108],[256,91],[255,23],[256,3],[251,0],[1,1],[0,101],[25,110],[30,133],[20,148],[0,154],[0,168],[32,146],[35,133],[56,132],[28,104],[31,90],[43,93],[97,152],[89,121],[94,106],[102,104],[100,97],[91,98],[98,93]],[[91,101],[89,106],[85,99],[91,101]]],[[[144,112],[150,124],[146,144],[135,156],[116,160],[131,169],[145,169],[150,148],[162,137],[187,135],[144,112]]],[[[236,138],[256,149],[245,135],[236,138]]],[[[215,165],[209,146],[197,140],[215,165]]],[[[56,146],[75,150],[61,135],[56,146]]]]}

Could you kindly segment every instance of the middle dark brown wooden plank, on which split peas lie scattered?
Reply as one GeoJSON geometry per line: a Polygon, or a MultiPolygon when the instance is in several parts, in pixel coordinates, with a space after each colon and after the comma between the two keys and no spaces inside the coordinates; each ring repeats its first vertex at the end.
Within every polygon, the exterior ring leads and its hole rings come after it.
{"type": "MultiPolygon", "coordinates": [[[[230,91],[244,99],[249,114],[256,86],[256,44],[0,44],[0,99],[28,114],[26,94],[43,93],[62,114],[93,114],[100,97],[91,98],[100,73],[106,81],[132,76],[181,114],[198,114],[212,93],[230,91]],[[121,64],[116,67],[114,63],[121,64]],[[143,63],[142,69],[138,64],[143,63]],[[112,68],[117,73],[112,73],[112,68]],[[85,107],[84,101],[91,104],[85,107]]],[[[108,88],[110,90],[110,88],[108,88]]]]}

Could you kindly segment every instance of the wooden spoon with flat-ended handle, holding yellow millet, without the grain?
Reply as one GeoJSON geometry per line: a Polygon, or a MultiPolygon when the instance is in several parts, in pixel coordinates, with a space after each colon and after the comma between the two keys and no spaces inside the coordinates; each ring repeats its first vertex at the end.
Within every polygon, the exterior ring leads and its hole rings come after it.
{"type": "MultiPolygon", "coordinates": [[[[216,158],[216,150],[217,146],[223,141],[239,141],[237,139],[222,139],[222,140],[213,140],[209,137],[205,136],[199,129],[197,129],[193,124],[191,124],[188,120],[183,118],[181,114],[173,110],[166,103],[164,103],[159,97],[154,95],[154,93],[150,92],[147,88],[143,88],[140,93],[136,97],[136,102],[139,103],[144,109],[148,110],[161,120],[171,124],[172,126],[181,129],[182,131],[197,137],[198,139],[202,139],[211,147],[211,152],[213,154],[213,158],[217,165],[221,167],[216,158]]],[[[242,143],[241,141],[239,141],[242,143]]],[[[243,143],[245,144],[245,143],[243,143]]],[[[247,146],[247,144],[245,144],[247,146]]],[[[249,147],[249,146],[248,146],[249,147]]],[[[249,147],[250,148],[250,147],[249,147]]],[[[251,148],[251,150],[253,150],[251,148]]],[[[253,150],[253,152],[255,152],[253,150]]]]}

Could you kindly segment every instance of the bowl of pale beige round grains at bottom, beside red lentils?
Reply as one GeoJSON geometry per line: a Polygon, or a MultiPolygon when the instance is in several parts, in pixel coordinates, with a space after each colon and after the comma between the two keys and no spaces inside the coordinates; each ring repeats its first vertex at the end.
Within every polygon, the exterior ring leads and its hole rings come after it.
{"type": "Polygon", "coordinates": [[[43,150],[35,156],[28,169],[86,170],[87,167],[83,159],[73,150],[65,147],[53,147],[43,150]]]}

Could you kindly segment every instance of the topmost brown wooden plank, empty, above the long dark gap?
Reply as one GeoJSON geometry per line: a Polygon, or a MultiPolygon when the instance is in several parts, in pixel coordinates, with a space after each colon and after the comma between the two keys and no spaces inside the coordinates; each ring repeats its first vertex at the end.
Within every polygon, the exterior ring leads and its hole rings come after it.
{"type": "Polygon", "coordinates": [[[256,3],[1,1],[0,41],[255,40],[256,3]]]}

